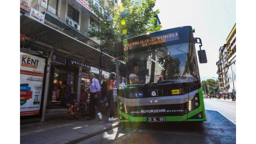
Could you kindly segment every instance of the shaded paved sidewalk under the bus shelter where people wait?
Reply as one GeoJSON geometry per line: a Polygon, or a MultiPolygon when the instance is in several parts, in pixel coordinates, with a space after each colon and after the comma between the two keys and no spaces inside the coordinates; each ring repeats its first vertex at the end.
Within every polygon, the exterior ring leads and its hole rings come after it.
{"type": "Polygon", "coordinates": [[[103,115],[102,120],[97,114],[94,120],[80,115],[79,112],[79,120],[68,120],[67,110],[63,108],[50,110],[45,122],[39,122],[40,118],[20,120],[20,144],[75,144],[121,124],[117,116],[116,121],[108,121],[109,115],[103,115]]]}

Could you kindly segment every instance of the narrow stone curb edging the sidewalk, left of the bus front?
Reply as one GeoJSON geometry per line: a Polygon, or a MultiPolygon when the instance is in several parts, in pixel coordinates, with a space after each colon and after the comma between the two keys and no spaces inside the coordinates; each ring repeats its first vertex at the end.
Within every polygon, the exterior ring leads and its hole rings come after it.
{"type": "Polygon", "coordinates": [[[98,132],[94,132],[94,133],[92,133],[92,134],[88,134],[87,136],[83,136],[83,137],[81,137],[81,138],[77,138],[77,139],[75,139],[75,140],[72,140],[72,141],[70,141],[70,142],[66,142],[66,143],[64,143],[64,144],[76,144],[76,143],[78,143],[78,142],[81,142],[81,141],[86,140],[86,139],[88,139],[88,138],[94,137],[94,136],[96,136],[96,135],[98,135],[98,134],[101,134],[101,133],[103,133],[103,132],[106,132],[106,131],[108,131],[108,130],[112,130],[112,129],[114,129],[114,128],[117,128],[117,127],[119,127],[119,126],[121,125],[121,123],[122,123],[122,122],[118,122],[118,124],[116,124],[116,125],[114,125],[114,126],[112,126],[112,127],[106,128],[106,129],[104,129],[104,130],[100,130],[100,131],[98,131],[98,132]]]}

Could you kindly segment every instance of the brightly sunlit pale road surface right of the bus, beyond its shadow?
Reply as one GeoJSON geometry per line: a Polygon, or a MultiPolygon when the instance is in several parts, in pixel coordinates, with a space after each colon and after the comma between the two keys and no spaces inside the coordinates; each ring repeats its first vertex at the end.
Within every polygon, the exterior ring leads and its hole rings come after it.
{"type": "Polygon", "coordinates": [[[204,105],[206,110],[217,111],[236,124],[236,103],[205,98],[204,105]]]}

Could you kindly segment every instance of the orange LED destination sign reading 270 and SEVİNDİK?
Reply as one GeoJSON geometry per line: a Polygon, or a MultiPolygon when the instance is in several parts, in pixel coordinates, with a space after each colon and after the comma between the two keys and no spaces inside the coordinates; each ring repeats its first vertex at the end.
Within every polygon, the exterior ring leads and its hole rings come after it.
{"type": "MultiPolygon", "coordinates": [[[[141,48],[145,46],[151,46],[155,44],[162,44],[164,42],[170,42],[172,40],[179,40],[179,33],[178,32],[172,32],[170,34],[164,34],[160,36],[154,36],[152,38],[148,38],[145,40],[138,40],[136,42],[131,43],[125,43],[125,40],[123,41],[124,44],[124,51],[131,50],[134,48],[141,48]]],[[[127,42],[127,40],[126,40],[127,42]]]]}

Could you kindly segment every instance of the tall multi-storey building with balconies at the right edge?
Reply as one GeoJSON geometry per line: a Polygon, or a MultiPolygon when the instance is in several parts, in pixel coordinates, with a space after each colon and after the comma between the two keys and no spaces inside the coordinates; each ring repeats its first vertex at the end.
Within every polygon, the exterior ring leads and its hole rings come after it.
{"type": "Polygon", "coordinates": [[[220,83],[220,94],[231,94],[236,96],[236,24],[232,28],[226,44],[219,49],[218,78],[220,83]]]}

